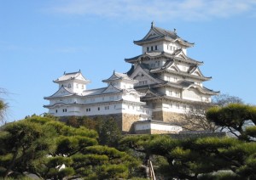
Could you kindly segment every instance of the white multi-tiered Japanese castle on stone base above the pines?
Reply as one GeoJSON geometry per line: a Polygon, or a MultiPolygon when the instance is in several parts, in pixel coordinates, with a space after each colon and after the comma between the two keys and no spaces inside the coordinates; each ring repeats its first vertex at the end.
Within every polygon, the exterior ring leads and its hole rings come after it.
{"type": "Polygon", "coordinates": [[[179,132],[176,126],[184,113],[194,108],[195,102],[211,103],[218,94],[202,82],[199,65],[203,62],[187,56],[187,48],[194,43],[177,36],[176,30],[166,31],[154,26],[143,39],[134,41],[142,47],[142,54],[125,62],[131,63],[126,73],[113,71],[102,82],[106,87],[86,89],[90,83],[79,70],[64,73],[54,82],[59,85],[49,97],[49,114],[111,115],[123,132],[162,133],[179,132]]]}

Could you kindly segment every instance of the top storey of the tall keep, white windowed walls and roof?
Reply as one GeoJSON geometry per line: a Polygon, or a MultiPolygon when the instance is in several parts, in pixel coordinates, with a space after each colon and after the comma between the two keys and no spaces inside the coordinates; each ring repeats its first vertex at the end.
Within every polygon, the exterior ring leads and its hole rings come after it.
{"type": "Polygon", "coordinates": [[[154,51],[173,53],[178,48],[183,49],[183,52],[186,53],[186,48],[194,46],[194,43],[178,37],[176,29],[167,31],[154,26],[154,22],[152,22],[147,35],[134,43],[143,47],[143,53],[154,51]]]}

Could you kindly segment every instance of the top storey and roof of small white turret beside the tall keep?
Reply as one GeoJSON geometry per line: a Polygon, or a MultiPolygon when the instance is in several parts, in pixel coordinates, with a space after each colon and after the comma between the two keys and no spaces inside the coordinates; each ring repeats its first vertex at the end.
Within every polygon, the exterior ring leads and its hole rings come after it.
{"type": "Polygon", "coordinates": [[[134,84],[137,83],[136,80],[131,79],[127,74],[115,72],[114,70],[112,76],[102,82],[106,82],[108,83],[108,86],[112,85],[119,89],[133,88],[134,84]]]}

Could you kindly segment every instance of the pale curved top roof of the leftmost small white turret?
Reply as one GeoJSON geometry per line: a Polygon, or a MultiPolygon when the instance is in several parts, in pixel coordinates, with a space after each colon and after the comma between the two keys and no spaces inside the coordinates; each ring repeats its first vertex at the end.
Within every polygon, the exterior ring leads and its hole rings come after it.
{"type": "Polygon", "coordinates": [[[85,82],[85,83],[90,82],[84,78],[84,76],[82,75],[80,70],[77,72],[70,72],[70,73],[64,72],[63,76],[59,77],[54,82],[59,83],[59,82],[66,82],[66,81],[70,81],[70,80],[77,80],[77,81],[85,82]]]}

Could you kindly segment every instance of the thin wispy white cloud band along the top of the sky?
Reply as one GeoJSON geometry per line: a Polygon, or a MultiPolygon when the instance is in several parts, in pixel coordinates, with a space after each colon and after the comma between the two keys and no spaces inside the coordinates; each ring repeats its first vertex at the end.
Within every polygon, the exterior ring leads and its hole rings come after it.
{"type": "Polygon", "coordinates": [[[256,0],[67,0],[50,10],[122,20],[211,20],[253,14],[256,0]]]}

